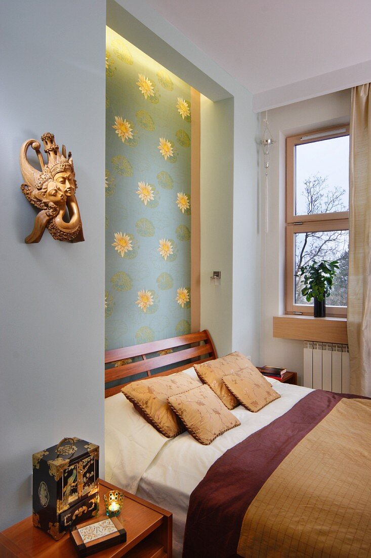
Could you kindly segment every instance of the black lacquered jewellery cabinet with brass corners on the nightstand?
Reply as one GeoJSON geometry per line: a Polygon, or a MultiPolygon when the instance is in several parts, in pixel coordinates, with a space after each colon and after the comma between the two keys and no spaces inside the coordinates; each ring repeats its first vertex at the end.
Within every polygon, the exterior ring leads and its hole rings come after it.
{"type": "Polygon", "coordinates": [[[99,446],[80,438],[32,456],[32,519],[55,540],[99,511],[99,446]]]}

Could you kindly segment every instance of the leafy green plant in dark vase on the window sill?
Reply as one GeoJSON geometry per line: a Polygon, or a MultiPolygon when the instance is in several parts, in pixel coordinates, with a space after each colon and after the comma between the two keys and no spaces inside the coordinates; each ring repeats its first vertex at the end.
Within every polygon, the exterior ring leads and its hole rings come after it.
{"type": "Polygon", "coordinates": [[[310,302],[314,299],[314,317],[324,318],[326,315],[326,297],[330,296],[333,287],[334,276],[339,269],[339,262],[329,262],[324,259],[321,262],[313,260],[305,266],[301,266],[299,273],[304,287],[301,294],[310,302]]]}

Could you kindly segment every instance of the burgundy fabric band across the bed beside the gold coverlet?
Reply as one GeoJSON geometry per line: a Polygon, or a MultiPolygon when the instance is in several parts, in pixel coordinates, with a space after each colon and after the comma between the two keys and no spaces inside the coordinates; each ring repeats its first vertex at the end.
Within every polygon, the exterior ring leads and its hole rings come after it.
{"type": "Polygon", "coordinates": [[[193,490],[183,558],[237,556],[241,525],[262,485],[296,444],[349,394],[313,391],[221,456],[193,490]]]}

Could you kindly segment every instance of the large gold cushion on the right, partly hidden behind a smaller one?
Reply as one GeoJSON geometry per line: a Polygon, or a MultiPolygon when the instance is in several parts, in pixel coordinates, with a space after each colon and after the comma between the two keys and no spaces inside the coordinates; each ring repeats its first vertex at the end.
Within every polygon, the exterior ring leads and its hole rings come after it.
{"type": "MultiPolygon", "coordinates": [[[[228,409],[234,409],[238,405],[238,401],[229,389],[224,385],[222,378],[228,374],[234,374],[239,370],[243,370],[247,366],[253,366],[243,354],[235,353],[227,354],[225,357],[209,360],[202,364],[194,364],[193,367],[197,372],[197,376],[203,383],[207,383],[214,393],[221,399],[228,409]]],[[[253,367],[255,368],[255,367],[253,367]]]]}

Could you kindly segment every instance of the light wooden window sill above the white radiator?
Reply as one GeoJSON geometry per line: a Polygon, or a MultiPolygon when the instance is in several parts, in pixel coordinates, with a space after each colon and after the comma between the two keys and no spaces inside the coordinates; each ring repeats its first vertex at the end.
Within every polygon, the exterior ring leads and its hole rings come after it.
{"type": "Polygon", "coordinates": [[[273,336],[322,343],[348,344],[346,318],[314,318],[314,316],[273,316],[273,336]]]}

